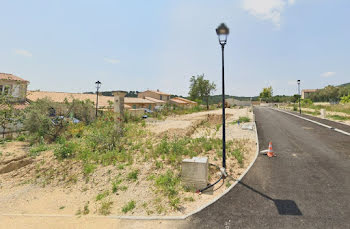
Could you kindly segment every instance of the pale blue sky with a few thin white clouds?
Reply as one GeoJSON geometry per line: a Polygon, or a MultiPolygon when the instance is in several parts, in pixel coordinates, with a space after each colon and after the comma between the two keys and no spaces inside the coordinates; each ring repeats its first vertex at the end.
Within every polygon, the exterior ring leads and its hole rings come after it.
{"type": "Polygon", "coordinates": [[[230,28],[225,91],[274,94],[350,82],[349,0],[0,0],[0,72],[29,89],[160,89],[204,74],[221,94],[215,28],[230,28]]]}

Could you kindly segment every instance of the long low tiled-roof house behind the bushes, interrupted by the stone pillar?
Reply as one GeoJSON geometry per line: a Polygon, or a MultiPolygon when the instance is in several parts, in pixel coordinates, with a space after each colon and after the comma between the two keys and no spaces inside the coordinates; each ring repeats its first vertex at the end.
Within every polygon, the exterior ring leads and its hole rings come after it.
{"type": "MultiPolygon", "coordinates": [[[[83,93],[66,93],[66,92],[49,92],[49,91],[28,91],[27,100],[37,101],[38,99],[48,98],[54,102],[63,103],[65,99],[68,102],[77,100],[90,100],[91,102],[96,102],[96,94],[83,94],[83,93]]],[[[148,108],[153,110],[156,106],[155,102],[147,99],[141,98],[124,98],[124,108],[125,109],[138,109],[138,108],[148,108]]],[[[98,96],[98,109],[99,110],[112,110],[113,109],[113,97],[111,96],[98,96]]]]}

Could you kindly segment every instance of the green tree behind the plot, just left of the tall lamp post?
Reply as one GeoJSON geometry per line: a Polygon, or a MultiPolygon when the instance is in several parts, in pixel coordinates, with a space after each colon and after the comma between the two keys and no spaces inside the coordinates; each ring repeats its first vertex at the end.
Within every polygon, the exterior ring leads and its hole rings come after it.
{"type": "Polygon", "coordinates": [[[204,74],[199,76],[192,76],[190,79],[189,96],[191,100],[206,103],[207,110],[209,110],[209,97],[216,90],[214,82],[204,79],[204,74]]]}

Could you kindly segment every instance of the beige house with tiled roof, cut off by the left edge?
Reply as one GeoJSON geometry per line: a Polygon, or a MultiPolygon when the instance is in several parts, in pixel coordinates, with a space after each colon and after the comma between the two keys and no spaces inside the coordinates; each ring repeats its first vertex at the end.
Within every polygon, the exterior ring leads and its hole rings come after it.
{"type": "Polygon", "coordinates": [[[24,103],[26,101],[28,84],[29,81],[18,76],[0,73],[0,94],[10,95],[16,103],[24,103]]]}

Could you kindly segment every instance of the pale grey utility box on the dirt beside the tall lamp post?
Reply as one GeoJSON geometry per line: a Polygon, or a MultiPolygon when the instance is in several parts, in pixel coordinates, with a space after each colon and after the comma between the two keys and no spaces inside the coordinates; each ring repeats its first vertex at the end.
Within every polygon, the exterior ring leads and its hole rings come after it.
{"type": "Polygon", "coordinates": [[[185,187],[205,188],[208,185],[208,158],[184,159],[181,166],[181,180],[185,187]]]}

